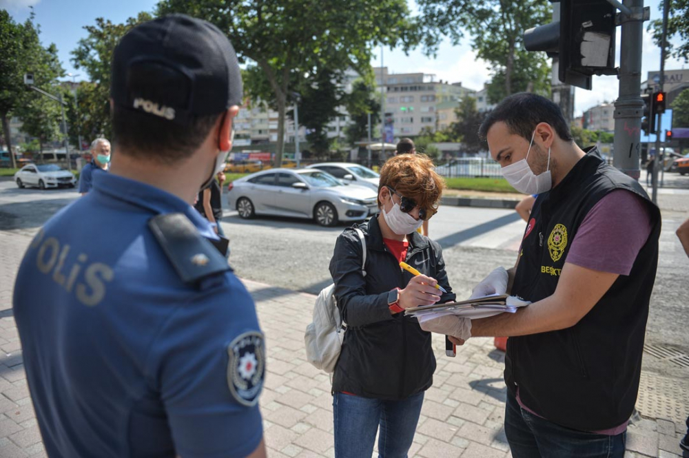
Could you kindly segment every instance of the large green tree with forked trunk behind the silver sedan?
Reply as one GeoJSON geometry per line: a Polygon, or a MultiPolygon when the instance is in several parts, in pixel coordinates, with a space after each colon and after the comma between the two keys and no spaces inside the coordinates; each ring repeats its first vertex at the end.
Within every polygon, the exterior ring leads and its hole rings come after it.
{"type": "MultiPolygon", "coordinates": [[[[361,72],[373,46],[409,49],[420,40],[418,24],[405,0],[163,0],[158,14],[182,12],[223,30],[242,61],[254,61],[265,74],[278,111],[278,151],[282,162],[289,94],[304,74],[327,68],[361,72]]],[[[253,85],[247,85],[249,90],[253,85]]],[[[265,92],[252,98],[268,100],[265,92]]]]}

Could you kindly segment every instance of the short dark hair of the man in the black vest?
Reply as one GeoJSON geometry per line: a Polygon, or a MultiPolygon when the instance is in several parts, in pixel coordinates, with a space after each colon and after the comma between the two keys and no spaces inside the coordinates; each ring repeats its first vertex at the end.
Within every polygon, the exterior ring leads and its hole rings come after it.
{"type": "Polygon", "coordinates": [[[520,92],[504,98],[481,123],[479,136],[485,139],[493,124],[500,121],[507,125],[511,134],[522,136],[529,141],[539,123],[550,124],[562,140],[573,139],[559,107],[553,101],[530,92],[520,92]]]}

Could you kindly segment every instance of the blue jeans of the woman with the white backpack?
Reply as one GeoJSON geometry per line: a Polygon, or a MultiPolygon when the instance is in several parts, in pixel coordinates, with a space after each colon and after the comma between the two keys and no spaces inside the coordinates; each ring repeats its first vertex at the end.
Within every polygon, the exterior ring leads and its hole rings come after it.
{"type": "Polygon", "coordinates": [[[371,457],[380,424],[378,457],[406,458],[423,403],[423,391],[401,401],[335,393],[335,457],[371,457]]]}

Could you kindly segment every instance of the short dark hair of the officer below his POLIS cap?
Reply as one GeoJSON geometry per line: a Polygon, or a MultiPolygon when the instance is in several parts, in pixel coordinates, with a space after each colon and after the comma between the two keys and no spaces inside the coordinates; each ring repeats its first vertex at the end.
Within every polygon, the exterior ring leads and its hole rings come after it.
{"type": "MultiPolygon", "coordinates": [[[[127,75],[132,92],[151,101],[169,101],[171,94],[180,99],[173,106],[184,106],[189,83],[178,72],[164,65],[132,67],[127,75]]],[[[173,164],[192,155],[208,136],[222,113],[189,116],[184,124],[141,110],[130,110],[114,104],[112,130],[118,153],[173,164]]]]}

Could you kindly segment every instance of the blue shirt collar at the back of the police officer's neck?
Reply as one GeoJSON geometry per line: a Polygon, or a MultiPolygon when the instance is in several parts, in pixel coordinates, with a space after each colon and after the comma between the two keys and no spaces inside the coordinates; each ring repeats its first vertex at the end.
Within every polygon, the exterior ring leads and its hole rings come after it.
{"type": "Polygon", "coordinates": [[[210,223],[181,198],[163,189],[114,174],[102,174],[94,180],[93,191],[107,198],[121,200],[154,214],[183,213],[205,238],[219,240],[210,223]]]}

